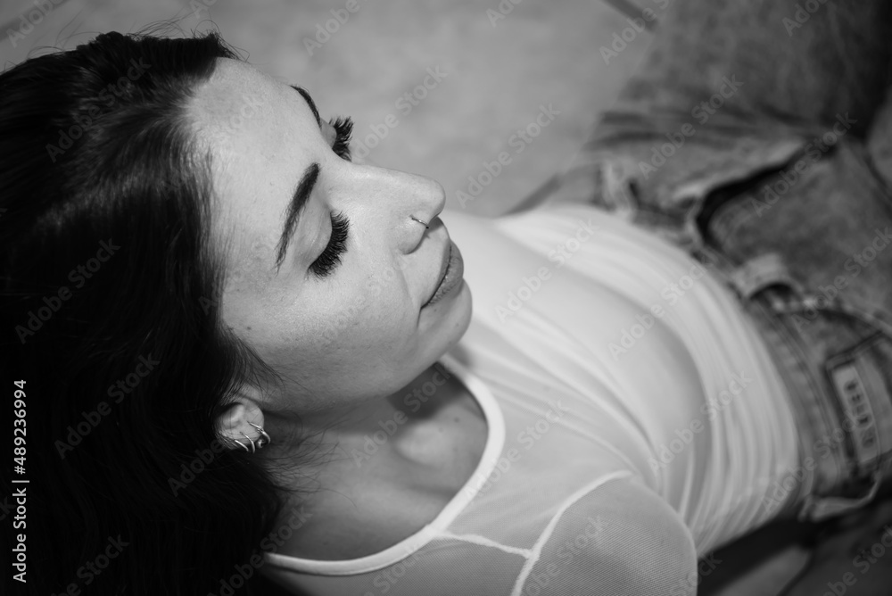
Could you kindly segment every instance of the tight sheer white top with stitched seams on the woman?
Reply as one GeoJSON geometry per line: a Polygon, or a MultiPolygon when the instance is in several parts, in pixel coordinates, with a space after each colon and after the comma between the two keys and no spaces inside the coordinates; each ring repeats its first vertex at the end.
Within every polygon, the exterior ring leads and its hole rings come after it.
{"type": "Polygon", "coordinates": [[[326,596],[695,593],[698,556],[774,517],[798,464],[735,297],[586,205],[442,219],[474,303],[442,362],[483,410],[483,457],[417,534],[361,559],[270,552],[265,573],[326,596]]]}

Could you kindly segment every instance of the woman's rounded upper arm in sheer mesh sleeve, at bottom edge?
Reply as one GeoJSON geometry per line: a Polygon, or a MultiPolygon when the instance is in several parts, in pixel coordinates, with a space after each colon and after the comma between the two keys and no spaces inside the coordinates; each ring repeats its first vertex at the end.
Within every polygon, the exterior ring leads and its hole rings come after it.
{"type": "Polygon", "coordinates": [[[646,486],[600,485],[558,517],[526,570],[523,596],[697,593],[697,552],[681,517],[646,486]]]}

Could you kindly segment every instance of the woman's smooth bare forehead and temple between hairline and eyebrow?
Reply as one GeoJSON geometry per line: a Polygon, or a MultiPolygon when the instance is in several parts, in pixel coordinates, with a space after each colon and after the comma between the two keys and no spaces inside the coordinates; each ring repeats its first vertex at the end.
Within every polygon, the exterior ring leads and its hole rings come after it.
{"type": "Polygon", "coordinates": [[[226,239],[230,272],[270,277],[285,206],[320,135],[310,107],[252,66],[219,59],[186,112],[211,154],[214,228],[226,239]]]}

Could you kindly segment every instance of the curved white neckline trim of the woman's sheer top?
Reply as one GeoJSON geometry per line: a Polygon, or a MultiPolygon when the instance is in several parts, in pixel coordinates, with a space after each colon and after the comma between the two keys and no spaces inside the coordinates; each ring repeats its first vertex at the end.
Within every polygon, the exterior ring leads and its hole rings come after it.
{"type": "Polygon", "coordinates": [[[467,482],[458,489],[458,493],[453,495],[446,506],[437,514],[437,517],[434,517],[429,524],[422,527],[415,534],[410,534],[400,542],[374,554],[359,557],[358,559],[318,560],[268,552],[265,553],[268,564],[315,575],[355,575],[389,567],[402,559],[406,559],[413,552],[425,546],[427,542],[430,542],[435,535],[442,533],[458,517],[458,514],[467,507],[467,504],[474,499],[489,478],[493,468],[496,467],[504,447],[505,418],[490,388],[483,383],[483,380],[476,377],[449,353],[443,354],[440,362],[465,385],[467,392],[471,394],[471,397],[475,399],[480,409],[483,410],[483,418],[486,419],[487,426],[486,446],[483,448],[483,455],[477,463],[474,472],[467,479],[467,482]]]}

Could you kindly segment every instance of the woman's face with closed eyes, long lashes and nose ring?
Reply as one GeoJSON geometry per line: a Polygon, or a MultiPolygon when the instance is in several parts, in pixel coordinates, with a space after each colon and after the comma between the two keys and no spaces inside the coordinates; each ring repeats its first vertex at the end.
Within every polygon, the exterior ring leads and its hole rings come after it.
{"type": "MultiPolygon", "coordinates": [[[[458,342],[471,313],[464,282],[427,303],[450,255],[440,184],[344,159],[303,94],[243,62],[220,59],[189,113],[211,150],[214,228],[227,243],[216,298],[289,381],[280,407],[389,395],[458,342]]],[[[451,263],[448,280],[461,269],[451,263]]]]}

